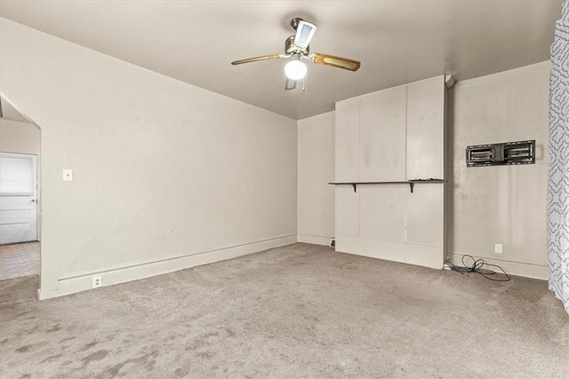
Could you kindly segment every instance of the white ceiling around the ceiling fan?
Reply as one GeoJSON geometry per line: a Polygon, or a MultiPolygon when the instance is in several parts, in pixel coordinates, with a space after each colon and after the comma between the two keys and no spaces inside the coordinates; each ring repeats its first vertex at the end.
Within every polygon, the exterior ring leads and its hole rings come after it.
{"type": "MultiPolygon", "coordinates": [[[[0,16],[294,119],[334,102],[453,73],[458,80],[549,59],[563,0],[6,1],[0,16]],[[317,24],[310,43],[362,61],[356,73],[309,65],[307,91],[284,91],[289,21],[317,24]]],[[[300,86],[299,86],[300,87],[300,86]]]]}

